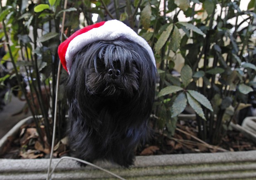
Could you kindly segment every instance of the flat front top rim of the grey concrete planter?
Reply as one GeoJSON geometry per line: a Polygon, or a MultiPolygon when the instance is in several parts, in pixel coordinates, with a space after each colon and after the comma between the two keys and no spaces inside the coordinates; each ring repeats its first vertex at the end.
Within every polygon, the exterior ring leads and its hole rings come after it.
{"type": "MultiPolygon", "coordinates": [[[[54,167],[58,161],[59,158],[52,159],[52,167],[54,167]]],[[[223,164],[239,162],[256,162],[256,150],[240,152],[137,156],[135,159],[135,165],[132,167],[223,164]]],[[[0,173],[11,172],[14,169],[17,172],[42,171],[42,169],[47,169],[49,159],[0,159],[0,164],[0,173]]],[[[110,164],[109,162],[98,161],[95,162],[95,164],[102,168],[121,168],[120,166],[110,164]]],[[[90,166],[86,166],[85,168],[94,169],[90,166]]],[[[62,162],[57,166],[56,171],[75,169],[83,168],[81,168],[74,160],[63,159],[62,162]]]]}

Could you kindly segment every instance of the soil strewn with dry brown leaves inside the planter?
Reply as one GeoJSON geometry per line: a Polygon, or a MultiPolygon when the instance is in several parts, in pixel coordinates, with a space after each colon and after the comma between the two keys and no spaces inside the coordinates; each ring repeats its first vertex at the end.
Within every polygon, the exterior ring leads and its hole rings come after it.
{"type": "MultiPolygon", "coordinates": [[[[41,126],[43,130],[44,127],[41,126]]],[[[54,157],[62,157],[69,154],[67,138],[56,142],[54,157]]],[[[18,136],[8,138],[0,158],[11,159],[34,159],[48,158],[50,145],[44,138],[44,145],[40,143],[35,125],[24,125],[20,128],[18,136]]],[[[149,143],[139,146],[136,155],[163,155],[185,154],[199,152],[225,152],[225,151],[248,151],[256,150],[256,144],[244,137],[236,130],[229,130],[218,145],[211,145],[197,137],[196,121],[178,121],[175,134],[168,136],[164,133],[155,133],[149,143]]]]}

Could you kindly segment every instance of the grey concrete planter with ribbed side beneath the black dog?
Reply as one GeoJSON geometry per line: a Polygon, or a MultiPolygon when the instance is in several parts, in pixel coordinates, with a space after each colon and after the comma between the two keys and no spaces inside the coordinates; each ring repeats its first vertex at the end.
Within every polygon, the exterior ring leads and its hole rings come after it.
{"type": "MultiPolygon", "coordinates": [[[[52,167],[58,160],[52,160],[52,167]]],[[[48,163],[49,159],[0,159],[0,179],[45,180],[48,163]]],[[[130,169],[104,162],[97,165],[131,180],[256,179],[256,151],[138,156],[130,169]]],[[[96,168],[81,168],[69,159],[64,159],[52,175],[56,180],[102,178],[114,179],[96,168]]]]}

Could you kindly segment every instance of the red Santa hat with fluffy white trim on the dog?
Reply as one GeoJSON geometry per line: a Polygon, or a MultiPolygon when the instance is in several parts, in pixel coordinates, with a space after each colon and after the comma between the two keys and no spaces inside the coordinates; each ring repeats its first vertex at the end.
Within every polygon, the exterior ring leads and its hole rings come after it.
{"type": "Polygon", "coordinates": [[[153,51],[147,41],[137,35],[137,33],[126,24],[118,20],[103,21],[74,32],[59,45],[58,54],[62,66],[70,73],[73,56],[84,46],[98,40],[114,40],[121,36],[144,47],[156,66],[153,51]]]}

